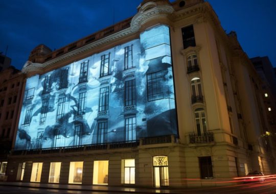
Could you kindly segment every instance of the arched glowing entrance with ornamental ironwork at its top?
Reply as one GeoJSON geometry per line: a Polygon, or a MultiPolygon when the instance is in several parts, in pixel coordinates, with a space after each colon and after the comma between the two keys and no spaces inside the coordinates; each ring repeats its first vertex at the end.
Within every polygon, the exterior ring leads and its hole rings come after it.
{"type": "Polygon", "coordinates": [[[167,156],[154,156],[153,161],[153,176],[154,186],[163,187],[169,186],[169,167],[167,156]]]}

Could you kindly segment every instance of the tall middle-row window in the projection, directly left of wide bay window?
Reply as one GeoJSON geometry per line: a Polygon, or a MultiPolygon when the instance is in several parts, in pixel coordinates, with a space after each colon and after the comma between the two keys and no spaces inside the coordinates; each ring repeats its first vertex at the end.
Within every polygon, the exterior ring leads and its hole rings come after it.
{"type": "Polygon", "coordinates": [[[135,105],[135,80],[129,80],[125,82],[125,106],[135,105]]]}

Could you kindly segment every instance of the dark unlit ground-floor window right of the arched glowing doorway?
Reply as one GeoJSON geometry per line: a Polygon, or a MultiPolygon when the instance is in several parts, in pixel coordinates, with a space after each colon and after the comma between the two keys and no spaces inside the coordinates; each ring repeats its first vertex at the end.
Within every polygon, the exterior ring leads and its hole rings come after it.
{"type": "Polygon", "coordinates": [[[213,179],[213,167],[211,156],[198,157],[200,178],[201,179],[213,179]]]}

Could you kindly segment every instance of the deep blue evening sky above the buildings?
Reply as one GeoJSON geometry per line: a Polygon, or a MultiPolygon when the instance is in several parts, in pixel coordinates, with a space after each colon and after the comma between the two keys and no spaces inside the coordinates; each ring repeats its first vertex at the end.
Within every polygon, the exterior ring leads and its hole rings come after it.
{"type": "MultiPolygon", "coordinates": [[[[135,15],[142,0],[0,0],[0,52],[21,69],[32,49],[52,50],[135,15]],[[113,14],[114,10],[114,14],[113,14]],[[114,15],[114,17],[113,17],[114,15]]],[[[236,31],[249,58],[276,66],[276,1],[208,0],[227,33],[236,31]]]]}

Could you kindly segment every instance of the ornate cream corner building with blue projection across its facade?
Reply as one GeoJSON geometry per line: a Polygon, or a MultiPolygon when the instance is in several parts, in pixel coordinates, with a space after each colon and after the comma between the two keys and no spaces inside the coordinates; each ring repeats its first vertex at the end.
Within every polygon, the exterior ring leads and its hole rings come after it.
{"type": "Polygon", "coordinates": [[[275,173],[262,80],[207,2],[143,1],[29,60],[8,181],[186,187],[275,173]]]}

